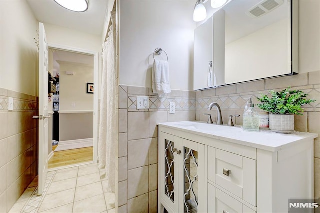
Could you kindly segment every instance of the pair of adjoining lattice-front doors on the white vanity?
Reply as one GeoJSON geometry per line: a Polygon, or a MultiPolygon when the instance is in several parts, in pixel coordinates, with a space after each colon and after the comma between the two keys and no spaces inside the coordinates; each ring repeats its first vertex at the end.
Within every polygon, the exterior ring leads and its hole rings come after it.
{"type": "Polygon", "coordinates": [[[205,146],[160,132],[159,161],[159,212],[205,212],[205,146]]]}

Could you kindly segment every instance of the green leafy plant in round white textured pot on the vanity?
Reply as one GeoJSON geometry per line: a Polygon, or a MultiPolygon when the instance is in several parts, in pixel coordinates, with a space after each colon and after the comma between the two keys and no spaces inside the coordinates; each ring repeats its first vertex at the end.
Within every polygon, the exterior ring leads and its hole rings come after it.
{"type": "Polygon", "coordinates": [[[260,93],[257,99],[261,102],[257,106],[269,112],[269,127],[278,132],[291,132],[294,130],[294,115],[303,115],[302,105],[315,102],[306,99],[308,94],[299,90],[290,90],[290,87],[276,92],[269,90],[268,94],[260,93]]]}

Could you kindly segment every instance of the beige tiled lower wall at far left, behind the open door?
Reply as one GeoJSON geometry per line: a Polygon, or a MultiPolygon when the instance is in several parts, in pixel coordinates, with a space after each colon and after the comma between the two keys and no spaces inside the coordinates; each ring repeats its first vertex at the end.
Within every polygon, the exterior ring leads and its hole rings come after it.
{"type": "Polygon", "coordinates": [[[11,209],[37,174],[37,111],[38,97],[0,88],[0,212],[11,209]]]}

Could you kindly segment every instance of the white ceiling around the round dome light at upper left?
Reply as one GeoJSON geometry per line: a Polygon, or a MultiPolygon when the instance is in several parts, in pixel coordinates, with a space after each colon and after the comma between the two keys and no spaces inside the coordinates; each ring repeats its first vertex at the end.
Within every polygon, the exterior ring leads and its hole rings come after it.
{"type": "Polygon", "coordinates": [[[53,0],[27,0],[36,19],[89,34],[102,35],[108,0],[89,0],[85,12],[67,10],[53,0]]]}

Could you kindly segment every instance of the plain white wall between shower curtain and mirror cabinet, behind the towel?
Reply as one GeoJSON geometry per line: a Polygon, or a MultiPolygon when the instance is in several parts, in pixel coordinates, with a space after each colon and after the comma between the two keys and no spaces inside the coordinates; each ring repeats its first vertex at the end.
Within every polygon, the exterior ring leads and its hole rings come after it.
{"type": "Polygon", "coordinates": [[[121,0],[119,4],[120,84],[151,87],[152,54],[161,47],[169,56],[171,88],[192,90],[195,1],[121,0]]]}

